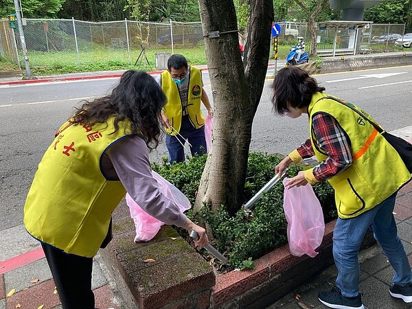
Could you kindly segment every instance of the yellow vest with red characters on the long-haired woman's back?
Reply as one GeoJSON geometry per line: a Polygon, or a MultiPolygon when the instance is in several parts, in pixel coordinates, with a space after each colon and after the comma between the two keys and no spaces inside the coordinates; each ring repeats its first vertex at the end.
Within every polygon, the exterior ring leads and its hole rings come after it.
{"type": "Polygon", "coordinates": [[[111,213],[126,194],[120,181],[105,179],[100,166],[104,152],[130,128],[119,122],[113,133],[113,119],[94,126],[66,122],[60,128],[24,207],[25,228],[34,238],[87,258],[98,252],[111,213]]]}

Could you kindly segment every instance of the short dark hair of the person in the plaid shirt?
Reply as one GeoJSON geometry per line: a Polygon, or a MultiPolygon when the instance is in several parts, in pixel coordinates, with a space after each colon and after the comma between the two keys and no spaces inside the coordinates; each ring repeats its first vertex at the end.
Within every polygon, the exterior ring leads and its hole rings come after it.
{"type": "Polygon", "coordinates": [[[277,72],[272,84],[273,109],[284,115],[289,106],[294,108],[308,107],[312,95],[325,91],[308,72],[299,67],[284,67],[277,72]]]}

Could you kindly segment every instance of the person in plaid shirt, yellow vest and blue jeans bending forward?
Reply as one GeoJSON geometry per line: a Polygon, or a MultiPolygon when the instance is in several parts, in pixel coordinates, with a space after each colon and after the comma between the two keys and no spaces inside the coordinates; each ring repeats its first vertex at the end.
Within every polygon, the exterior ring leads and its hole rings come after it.
{"type": "Polygon", "coordinates": [[[290,187],[328,180],[335,190],[339,218],[333,233],[338,276],[331,291],[319,293],[330,308],[363,309],[359,293],[358,251],[367,229],[395,270],[392,297],[412,302],[412,273],[393,217],[396,192],[411,181],[398,152],[361,108],[323,93],[317,81],[299,67],[286,67],[273,80],[275,111],[291,118],[309,116],[310,138],[282,160],[275,172],[290,163],[316,156],[319,165],[299,172],[290,187]]]}

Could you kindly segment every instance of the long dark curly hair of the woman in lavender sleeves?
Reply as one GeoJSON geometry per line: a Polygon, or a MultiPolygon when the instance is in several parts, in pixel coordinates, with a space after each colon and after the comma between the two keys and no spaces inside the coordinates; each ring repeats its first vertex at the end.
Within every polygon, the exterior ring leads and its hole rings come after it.
{"type": "Polygon", "coordinates": [[[110,95],[83,102],[81,108],[76,108],[71,122],[93,126],[105,123],[109,117],[114,116],[115,133],[119,130],[119,122],[128,119],[131,133],[141,133],[149,150],[159,145],[163,134],[160,113],[166,97],[148,73],[128,70],[110,95]]]}

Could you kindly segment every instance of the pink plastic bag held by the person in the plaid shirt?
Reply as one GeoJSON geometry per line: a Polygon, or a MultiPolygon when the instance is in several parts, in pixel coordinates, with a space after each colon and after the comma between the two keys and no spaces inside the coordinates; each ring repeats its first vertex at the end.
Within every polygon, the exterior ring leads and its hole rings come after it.
{"type": "MultiPolygon", "coordinates": [[[[286,185],[290,179],[284,179],[286,185]]],[[[284,190],[284,211],[288,221],[288,242],[290,253],[295,256],[304,254],[314,258],[314,251],[320,246],[325,233],[325,221],[321,204],[314,195],[312,185],[284,190]]]]}

